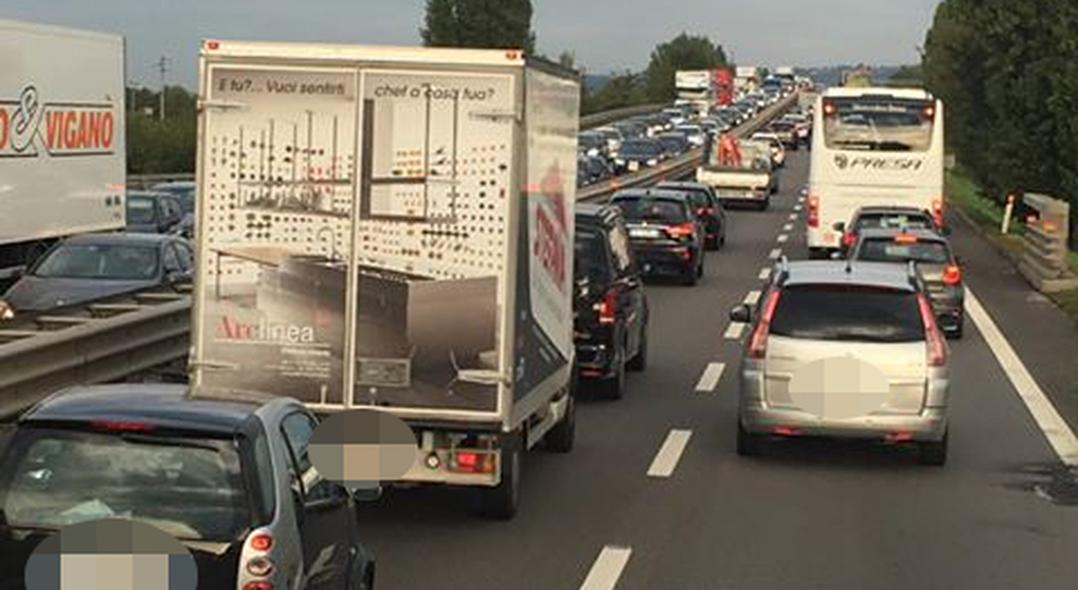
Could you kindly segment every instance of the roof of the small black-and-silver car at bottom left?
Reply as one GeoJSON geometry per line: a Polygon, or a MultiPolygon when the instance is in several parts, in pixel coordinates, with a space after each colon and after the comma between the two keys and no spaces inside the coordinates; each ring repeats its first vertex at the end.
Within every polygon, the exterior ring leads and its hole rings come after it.
{"type": "Polygon", "coordinates": [[[248,401],[192,398],[187,385],[131,383],[61,391],[23,414],[20,423],[114,420],[229,434],[275,397],[248,401]]]}

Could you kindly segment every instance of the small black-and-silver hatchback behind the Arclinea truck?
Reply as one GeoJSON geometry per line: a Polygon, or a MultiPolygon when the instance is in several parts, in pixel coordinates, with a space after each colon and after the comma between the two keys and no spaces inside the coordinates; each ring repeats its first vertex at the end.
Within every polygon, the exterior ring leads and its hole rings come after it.
{"type": "Polygon", "coordinates": [[[0,456],[0,588],[22,590],[30,554],[61,528],[124,518],[183,543],[200,590],[370,590],[356,502],[375,494],[318,474],[317,425],[294,400],[203,400],[186,385],[54,394],[0,456]]]}

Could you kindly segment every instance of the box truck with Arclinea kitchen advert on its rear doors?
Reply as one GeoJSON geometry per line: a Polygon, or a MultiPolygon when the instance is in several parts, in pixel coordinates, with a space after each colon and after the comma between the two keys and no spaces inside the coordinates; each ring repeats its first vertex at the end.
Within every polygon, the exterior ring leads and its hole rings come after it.
{"type": "Polygon", "coordinates": [[[580,85],[519,51],[205,41],[192,394],[389,413],[517,508],[574,432],[580,85]]]}

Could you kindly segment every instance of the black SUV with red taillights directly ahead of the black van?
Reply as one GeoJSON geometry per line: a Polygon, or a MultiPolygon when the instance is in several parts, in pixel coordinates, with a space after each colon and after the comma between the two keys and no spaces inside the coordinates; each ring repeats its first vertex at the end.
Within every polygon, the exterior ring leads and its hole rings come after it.
{"type": "Polygon", "coordinates": [[[688,195],[630,188],[614,194],[610,202],[622,210],[645,275],[674,275],[689,286],[703,276],[706,231],[688,195]]]}

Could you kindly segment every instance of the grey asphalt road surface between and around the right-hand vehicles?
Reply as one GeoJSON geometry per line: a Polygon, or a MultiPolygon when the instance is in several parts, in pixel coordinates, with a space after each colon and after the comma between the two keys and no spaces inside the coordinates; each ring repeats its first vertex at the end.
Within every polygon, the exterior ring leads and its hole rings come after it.
{"type": "MultiPolygon", "coordinates": [[[[648,370],[630,376],[622,401],[581,401],[571,455],[526,457],[516,519],[479,519],[470,496],[453,490],[391,490],[365,506],[363,534],[378,558],[378,587],[1078,587],[1078,508],[1045,492],[1059,491],[1050,484],[1065,471],[973,323],[952,345],[945,468],[922,467],[903,447],[797,442],[752,459],[734,453],[745,336],[727,337],[735,334],[727,334],[726,314],[759,288],[774,249],[804,257],[804,222],[794,208],[806,176],[807,152],[793,152],[769,211],[731,213],[727,245],[710,255],[698,287],[648,287],[648,370]],[[696,391],[714,362],[724,365],[718,385],[696,391]],[[671,437],[672,430],[683,432],[671,437]],[[672,474],[649,477],[664,442],[677,459],[665,462],[672,474]]],[[[976,239],[964,228],[955,236],[960,254],[984,247],[976,239]]],[[[999,316],[995,285],[977,272],[971,284],[999,316]]]]}

